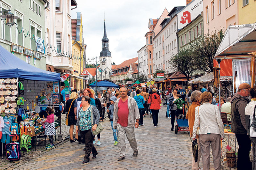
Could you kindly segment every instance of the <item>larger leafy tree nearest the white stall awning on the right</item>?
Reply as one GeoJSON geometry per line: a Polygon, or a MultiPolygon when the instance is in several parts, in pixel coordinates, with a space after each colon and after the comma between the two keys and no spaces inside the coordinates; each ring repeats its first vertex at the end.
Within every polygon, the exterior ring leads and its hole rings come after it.
{"type": "Polygon", "coordinates": [[[213,58],[219,48],[220,42],[224,36],[222,29],[218,33],[213,32],[197,38],[190,42],[190,49],[196,57],[196,66],[201,71],[213,72],[213,58]]]}

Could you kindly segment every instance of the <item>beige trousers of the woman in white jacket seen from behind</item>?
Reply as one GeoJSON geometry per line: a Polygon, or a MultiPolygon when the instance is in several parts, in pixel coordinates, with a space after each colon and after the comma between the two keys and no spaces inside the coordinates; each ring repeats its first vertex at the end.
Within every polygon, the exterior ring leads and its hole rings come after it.
{"type": "Polygon", "coordinates": [[[212,146],[213,165],[215,170],[220,170],[220,135],[204,134],[199,135],[201,145],[201,154],[203,159],[204,170],[210,169],[210,152],[212,146]]]}

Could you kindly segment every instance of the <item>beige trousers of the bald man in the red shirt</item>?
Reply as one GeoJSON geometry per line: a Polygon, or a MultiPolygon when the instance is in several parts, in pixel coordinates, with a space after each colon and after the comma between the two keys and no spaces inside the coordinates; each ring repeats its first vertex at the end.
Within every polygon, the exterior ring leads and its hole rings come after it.
{"type": "Polygon", "coordinates": [[[126,144],[125,144],[125,135],[130,143],[130,146],[133,151],[138,151],[137,142],[135,139],[134,127],[123,127],[120,124],[117,124],[117,134],[118,134],[118,149],[120,156],[125,156],[126,154],[126,144]]]}

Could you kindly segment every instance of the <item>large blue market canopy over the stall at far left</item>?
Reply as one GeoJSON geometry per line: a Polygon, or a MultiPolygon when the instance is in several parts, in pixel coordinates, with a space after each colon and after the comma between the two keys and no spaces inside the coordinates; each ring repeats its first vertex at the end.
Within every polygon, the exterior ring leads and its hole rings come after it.
{"type": "Polygon", "coordinates": [[[36,68],[12,55],[0,45],[0,78],[14,77],[39,81],[59,81],[60,73],[36,68]]]}

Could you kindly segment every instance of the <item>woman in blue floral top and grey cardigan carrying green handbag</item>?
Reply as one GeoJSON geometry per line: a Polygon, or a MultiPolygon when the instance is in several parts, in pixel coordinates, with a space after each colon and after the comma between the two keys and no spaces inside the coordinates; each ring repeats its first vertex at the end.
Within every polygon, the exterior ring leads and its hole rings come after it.
{"type": "Polygon", "coordinates": [[[85,155],[84,155],[84,163],[90,161],[90,154],[92,152],[92,159],[96,158],[98,152],[94,145],[92,144],[94,135],[92,134],[92,130],[95,130],[100,121],[100,114],[97,107],[90,105],[91,99],[88,96],[82,96],[81,104],[83,107],[78,110],[78,117],[76,122],[76,132],[79,136],[82,136],[85,139],[85,155]],[[93,115],[93,123],[91,120],[91,109],[93,115]],[[92,126],[93,124],[93,126],[92,126]]]}

